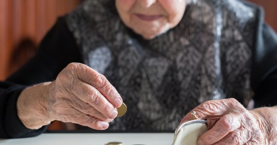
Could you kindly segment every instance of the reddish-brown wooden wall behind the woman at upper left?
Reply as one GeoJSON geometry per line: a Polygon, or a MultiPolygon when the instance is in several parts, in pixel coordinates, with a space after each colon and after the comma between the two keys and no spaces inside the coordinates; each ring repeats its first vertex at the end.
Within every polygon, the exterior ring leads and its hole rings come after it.
{"type": "MultiPolygon", "coordinates": [[[[70,12],[80,2],[81,0],[0,0],[0,80],[10,75],[10,56],[22,39],[30,38],[38,45],[57,17],[70,12]]],[[[25,58],[22,61],[26,61],[25,58]]]]}

